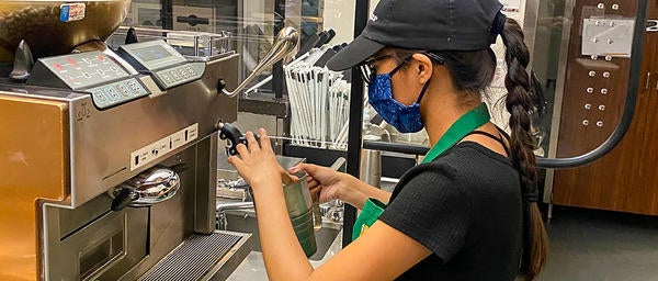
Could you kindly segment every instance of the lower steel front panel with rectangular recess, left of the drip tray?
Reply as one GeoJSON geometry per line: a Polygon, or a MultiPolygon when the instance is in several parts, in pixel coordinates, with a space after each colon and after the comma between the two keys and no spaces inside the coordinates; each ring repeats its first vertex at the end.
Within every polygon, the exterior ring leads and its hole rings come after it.
{"type": "Polygon", "coordinates": [[[147,257],[148,228],[144,226],[148,225],[149,210],[109,212],[110,201],[107,196],[99,196],[82,210],[75,211],[46,207],[46,229],[50,232],[46,235],[47,278],[90,280],[103,273],[112,276],[117,269],[120,272],[125,271],[147,257]],[[81,217],[88,214],[86,211],[105,212],[88,221],[81,217]],[[76,221],[82,224],[80,228],[70,232],[68,226],[75,225],[76,221]]]}

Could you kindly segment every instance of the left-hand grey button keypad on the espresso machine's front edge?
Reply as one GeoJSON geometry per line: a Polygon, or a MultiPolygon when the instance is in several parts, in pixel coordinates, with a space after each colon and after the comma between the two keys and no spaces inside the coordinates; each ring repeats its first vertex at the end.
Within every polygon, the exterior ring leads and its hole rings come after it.
{"type": "Polygon", "coordinates": [[[136,78],[103,85],[87,91],[91,92],[93,103],[100,109],[111,108],[125,101],[149,94],[136,78]]]}

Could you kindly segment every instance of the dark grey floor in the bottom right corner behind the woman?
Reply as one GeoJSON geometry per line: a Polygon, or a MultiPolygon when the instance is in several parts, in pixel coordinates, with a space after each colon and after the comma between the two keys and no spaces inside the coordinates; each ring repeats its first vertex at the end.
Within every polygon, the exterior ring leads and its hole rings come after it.
{"type": "Polygon", "coordinates": [[[658,280],[658,217],[556,207],[540,280],[658,280]]]}

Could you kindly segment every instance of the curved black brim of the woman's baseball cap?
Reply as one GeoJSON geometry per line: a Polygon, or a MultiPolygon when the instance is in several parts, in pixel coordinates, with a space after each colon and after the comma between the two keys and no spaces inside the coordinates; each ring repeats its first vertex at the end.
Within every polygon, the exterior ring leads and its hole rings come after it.
{"type": "Polygon", "coordinates": [[[327,67],[333,71],[342,71],[352,68],[377,53],[383,47],[384,45],[361,35],[329,59],[329,61],[327,61],[327,67]]]}

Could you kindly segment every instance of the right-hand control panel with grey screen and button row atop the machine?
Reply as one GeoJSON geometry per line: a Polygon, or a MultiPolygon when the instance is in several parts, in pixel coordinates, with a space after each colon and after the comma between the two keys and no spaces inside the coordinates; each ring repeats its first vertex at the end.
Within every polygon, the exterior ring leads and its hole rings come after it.
{"type": "Polygon", "coordinates": [[[204,63],[192,63],[164,41],[123,45],[118,54],[143,74],[154,77],[163,90],[203,77],[204,63]]]}

